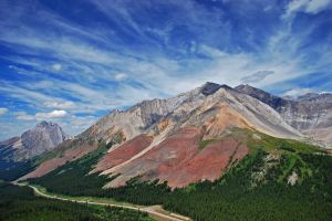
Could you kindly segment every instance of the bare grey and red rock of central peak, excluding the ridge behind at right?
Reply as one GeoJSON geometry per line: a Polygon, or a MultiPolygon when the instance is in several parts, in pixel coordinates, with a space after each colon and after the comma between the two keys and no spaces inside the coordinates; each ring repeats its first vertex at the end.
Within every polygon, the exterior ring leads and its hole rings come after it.
{"type": "Polygon", "coordinates": [[[127,110],[110,113],[77,136],[84,148],[64,148],[24,179],[41,177],[93,151],[96,146],[87,146],[86,140],[97,140],[112,149],[91,172],[118,175],[107,187],[123,186],[137,176],[167,181],[174,188],[216,180],[229,164],[248,155],[247,138],[229,136],[235,128],[304,140],[270,105],[208,82],[168,99],[144,101],[127,110]],[[66,157],[80,149],[79,157],[66,157]]]}

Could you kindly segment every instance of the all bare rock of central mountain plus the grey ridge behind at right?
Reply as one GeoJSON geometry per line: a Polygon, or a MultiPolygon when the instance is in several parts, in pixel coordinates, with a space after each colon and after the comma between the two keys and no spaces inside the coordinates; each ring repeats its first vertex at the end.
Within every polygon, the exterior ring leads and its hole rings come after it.
{"type": "Polygon", "coordinates": [[[271,136],[331,148],[331,94],[289,99],[249,85],[207,82],[172,98],[107,114],[56,151],[42,155],[21,179],[42,177],[105,143],[112,148],[90,170],[116,176],[105,187],[121,187],[135,177],[186,187],[220,178],[250,152],[248,140],[271,136]]]}

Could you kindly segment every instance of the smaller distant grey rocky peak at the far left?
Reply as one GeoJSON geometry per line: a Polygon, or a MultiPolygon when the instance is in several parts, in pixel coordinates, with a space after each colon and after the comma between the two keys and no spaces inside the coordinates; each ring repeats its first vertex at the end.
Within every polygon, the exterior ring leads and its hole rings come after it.
{"type": "Polygon", "coordinates": [[[58,124],[41,122],[20,137],[0,143],[1,168],[30,160],[54,149],[66,139],[70,136],[58,124]]]}

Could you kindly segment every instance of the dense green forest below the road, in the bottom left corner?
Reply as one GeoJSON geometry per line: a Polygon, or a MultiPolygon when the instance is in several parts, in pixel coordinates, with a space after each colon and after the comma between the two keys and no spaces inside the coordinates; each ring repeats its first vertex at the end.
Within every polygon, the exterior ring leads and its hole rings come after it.
{"type": "Polygon", "coordinates": [[[39,198],[29,187],[0,183],[0,220],[6,221],[152,221],[146,213],[39,198]]]}

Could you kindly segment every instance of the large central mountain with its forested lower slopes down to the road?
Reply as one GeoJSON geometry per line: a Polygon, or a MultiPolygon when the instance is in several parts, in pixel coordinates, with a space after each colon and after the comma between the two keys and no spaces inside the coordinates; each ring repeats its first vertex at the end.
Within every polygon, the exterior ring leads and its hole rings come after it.
{"type": "Polygon", "coordinates": [[[323,119],[302,109],[318,103],[329,116],[326,101],[206,83],[105,115],[34,158],[20,180],[73,199],[160,204],[193,220],[329,220],[332,157],[303,129],[323,119]]]}

